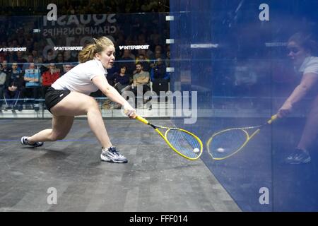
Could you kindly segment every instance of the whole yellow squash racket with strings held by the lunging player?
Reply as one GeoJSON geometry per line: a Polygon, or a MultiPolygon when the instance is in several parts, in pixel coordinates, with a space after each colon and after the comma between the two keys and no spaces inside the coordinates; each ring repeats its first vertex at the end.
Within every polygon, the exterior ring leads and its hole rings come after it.
{"type": "Polygon", "coordinates": [[[157,133],[165,140],[167,145],[176,153],[188,160],[197,160],[203,151],[203,144],[197,136],[189,131],[178,128],[170,128],[164,126],[155,126],[143,117],[136,116],[137,120],[153,127],[157,133]],[[164,134],[159,129],[165,129],[164,134]]]}

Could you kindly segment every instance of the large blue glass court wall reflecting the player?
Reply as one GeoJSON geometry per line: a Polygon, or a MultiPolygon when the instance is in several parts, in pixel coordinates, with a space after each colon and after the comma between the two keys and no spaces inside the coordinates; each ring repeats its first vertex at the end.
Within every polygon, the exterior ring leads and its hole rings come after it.
{"type": "Polygon", "coordinates": [[[171,88],[196,91],[198,109],[195,123],[175,124],[201,137],[202,160],[244,211],[318,210],[317,8],[311,0],[170,1],[171,88]],[[224,150],[213,153],[213,134],[264,124],[280,109],[289,114],[218,160],[224,150]]]}

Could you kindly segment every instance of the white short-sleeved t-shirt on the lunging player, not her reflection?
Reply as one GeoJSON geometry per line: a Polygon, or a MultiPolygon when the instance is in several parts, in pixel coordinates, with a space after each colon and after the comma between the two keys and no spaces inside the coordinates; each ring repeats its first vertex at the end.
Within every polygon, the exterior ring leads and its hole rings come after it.
{"type": "Polygon", "coordinates": [[[57,79],[52,87],[56,90],[70,90],[90,95],[98,90],[92,79],[100,75],[106,76],[107,71],[99,60],[93,59],[73,67],[64,76],[57,79]]]}

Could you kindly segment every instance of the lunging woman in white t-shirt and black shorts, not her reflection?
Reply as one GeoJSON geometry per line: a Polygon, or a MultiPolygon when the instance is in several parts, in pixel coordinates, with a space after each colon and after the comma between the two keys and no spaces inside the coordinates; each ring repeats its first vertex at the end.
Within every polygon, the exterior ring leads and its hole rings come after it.
{"type": "Polygon", "coordinates": [[[107,37],[94,39],[78,55],[81,64],[68,71],[47,90],[45,105],[52,113],[52,129],[45,129],[33,136],[23,136],[23,145],[42,146],[44,141],[57,141],[66,137],[77,115],[87,115],[90,129],[102,146],[101,160],[127,162],[119,154],[107,135],[98,103],[90,93],[102,91],[110,100],[122,105],[125,114],[134,117],[135,109],[115,88],[107,83],[107,69],[114,64],[114,44],[107,37]]]}

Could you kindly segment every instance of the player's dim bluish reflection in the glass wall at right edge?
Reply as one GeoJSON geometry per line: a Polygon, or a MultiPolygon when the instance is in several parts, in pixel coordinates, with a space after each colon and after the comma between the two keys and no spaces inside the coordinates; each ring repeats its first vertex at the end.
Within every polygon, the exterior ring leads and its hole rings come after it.
{"type": "Polygon", "coordinates": [[[288,57],[293,61],[301,81],[278,109],[278,118],[286,117],[293,112],[295,105],[304,97],[313,99],[300,141],[295,150],[285,158],[288,164],[302,164],[311,161],[309,150],[317,140],[318,134],[318,57],[314,57],[317,56],[318,47],[310,35],[299,32],[290,37],[287,49],[288,57]]]}

